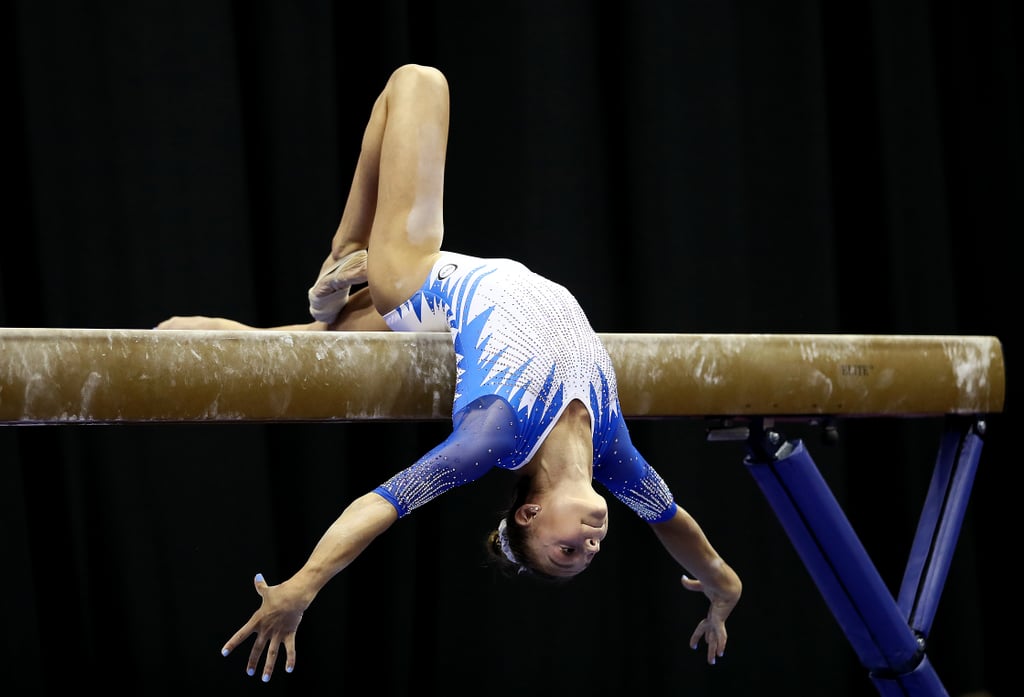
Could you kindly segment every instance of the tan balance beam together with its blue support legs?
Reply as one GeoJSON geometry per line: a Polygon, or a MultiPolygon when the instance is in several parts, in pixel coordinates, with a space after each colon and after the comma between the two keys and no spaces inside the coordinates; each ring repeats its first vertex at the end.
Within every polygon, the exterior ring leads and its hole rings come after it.
{"type": "MultiPolygon", "coordinates": [[[[948,697],[927,656],[985,434],[994,337],[602,334],[631,418],[719,418],[883,697],[948,697]],[[942,417],[898,598],[786,419],[942,417]],[[731,427],[732,420],[745,424],[731,427]]],[[[0,329],[0,425],[450,419],[444,333],[0,329]]],[[[712,439],[712,438],[709,438],[712,439]]],[[[724,439],[724,438],[722,438],[724,439]]],[[[877,452],[886,444],[880,443],[877,452]]]]}

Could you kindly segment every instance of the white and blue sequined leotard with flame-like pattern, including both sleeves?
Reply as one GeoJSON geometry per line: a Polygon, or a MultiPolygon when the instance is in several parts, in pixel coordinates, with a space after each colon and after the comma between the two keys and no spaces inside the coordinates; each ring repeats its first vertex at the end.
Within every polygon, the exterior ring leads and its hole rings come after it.
{"type": "Polygon", "coordinates": [[[447,331],[456,356],[452,435],[375,489],[399,517],[494,467],[522,467],[572,399],[590,411],[594,478],[643,520],[675,513],[630,440],[611,359],[563,287],[516,261],[445,252],[384,320],[395,332],[447,331]]]}

